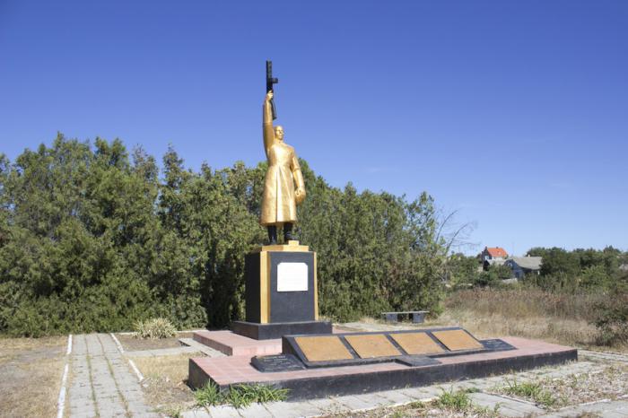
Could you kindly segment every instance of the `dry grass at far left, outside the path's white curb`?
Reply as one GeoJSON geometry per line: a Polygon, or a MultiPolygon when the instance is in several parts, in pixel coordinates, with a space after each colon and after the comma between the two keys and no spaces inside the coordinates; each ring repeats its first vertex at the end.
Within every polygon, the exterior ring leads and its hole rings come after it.
{"type": "Polygon", "coordinates": [[[67,337],[0,338],[0,416],[55,416],[67,337]]]}

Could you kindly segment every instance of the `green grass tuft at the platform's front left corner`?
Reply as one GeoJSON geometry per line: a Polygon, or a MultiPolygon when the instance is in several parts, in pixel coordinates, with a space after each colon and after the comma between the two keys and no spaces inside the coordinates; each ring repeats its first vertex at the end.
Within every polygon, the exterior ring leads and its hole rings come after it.
{"type": "Polygon", "coordinates": [[[234,385],[228,391],[221,392],[218,387],[208,382],[203,388],[196,390],[196,405],[233,405],[243,408],[251,404],[284,401],[289,389],[273,388],[267,385],[234,385]]]}

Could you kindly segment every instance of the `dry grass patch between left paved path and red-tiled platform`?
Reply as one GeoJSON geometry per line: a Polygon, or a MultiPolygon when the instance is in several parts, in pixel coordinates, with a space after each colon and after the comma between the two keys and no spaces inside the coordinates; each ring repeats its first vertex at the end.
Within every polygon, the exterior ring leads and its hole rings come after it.
{"type": "Polygon", "coordinates": [[[175,414],[191,409],[194,404],[192,390],[188,387],[188,362],[190,357],[202,353],[135,358],[135,364],[144,374],[146,401],[164,414],[175,414]]]}

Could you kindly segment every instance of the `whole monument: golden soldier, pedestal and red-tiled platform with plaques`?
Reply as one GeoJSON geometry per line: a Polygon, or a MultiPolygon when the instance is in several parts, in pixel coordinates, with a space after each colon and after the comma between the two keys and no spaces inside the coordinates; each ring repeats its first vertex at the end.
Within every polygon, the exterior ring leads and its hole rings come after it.
{"type": "MultiPolygon", "coordinates": [[[[244,321],[231,331],[197,331],[194,339],[227,357],[189,360],[189,385],[221,391],[266,384],[292,399],[360,394],[473,379],[578,359],[571,347],[505,337],[478,340],[460,327],[332,333],[318,320],[317,257],[292,235],[306,196],[299,159],[274,126],[272,65],[266,63],[262,109],[268,161],[260,225],[270,245],[245,256],[244,321]],[[277,229],[283,242],[277,245],[277,229]]],[[[413,311],[422,314],[424,311],[413,311]]],[[[397,314],[397,313],[396,313],[397,314]]],[[[336,330],[339,331],[339,330],[336,330]]]]}

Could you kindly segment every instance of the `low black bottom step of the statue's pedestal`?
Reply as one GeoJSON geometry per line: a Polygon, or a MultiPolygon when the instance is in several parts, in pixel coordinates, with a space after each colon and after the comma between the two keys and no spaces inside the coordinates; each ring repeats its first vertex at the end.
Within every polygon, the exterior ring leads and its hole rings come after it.
{"type": "Polygon", "coordinates": [[[248,336],[255,340],[270,340],[281,338],[283,335],[331,334],[331,322],[303,321],[258,324],[256,322],[235,321],[231,323],[231,330],[236,334],[248,336]]]}

